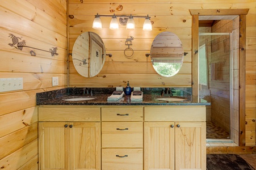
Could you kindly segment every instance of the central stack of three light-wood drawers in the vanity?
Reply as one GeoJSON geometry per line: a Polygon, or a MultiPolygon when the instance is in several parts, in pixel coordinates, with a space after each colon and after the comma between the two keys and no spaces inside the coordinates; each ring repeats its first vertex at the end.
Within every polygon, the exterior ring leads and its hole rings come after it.
{"type": "Polygon", "coordinates": [[[143,169],[143,107],[102,108],[102,170],[143,169]]]}

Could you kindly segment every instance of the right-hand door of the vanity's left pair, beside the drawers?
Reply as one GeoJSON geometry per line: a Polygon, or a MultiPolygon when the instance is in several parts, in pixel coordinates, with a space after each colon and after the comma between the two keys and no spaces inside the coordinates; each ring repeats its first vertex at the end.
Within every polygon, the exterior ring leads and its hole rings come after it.
{"type": "Polygon", "coordinates": [[[70,126],[70,169],[100,169],[100,122],[73,122],[70,126]]]}

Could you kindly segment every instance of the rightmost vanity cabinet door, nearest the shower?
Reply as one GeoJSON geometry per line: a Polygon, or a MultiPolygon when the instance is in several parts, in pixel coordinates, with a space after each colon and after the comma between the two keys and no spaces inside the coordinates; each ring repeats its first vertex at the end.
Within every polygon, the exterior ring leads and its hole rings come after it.
{"type": "Polygon", "coordinates": [[[175,169],[206,169],[205,122],[175,122],[175,169]]]}

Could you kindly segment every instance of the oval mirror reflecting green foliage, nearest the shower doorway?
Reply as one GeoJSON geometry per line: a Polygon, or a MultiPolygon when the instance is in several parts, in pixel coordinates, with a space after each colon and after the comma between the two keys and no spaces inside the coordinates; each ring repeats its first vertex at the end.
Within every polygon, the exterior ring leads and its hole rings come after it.
{"type": "Polygon", "coordinates": [[[184,50],[179,37],[172,32],[161,32],[152,42],[151,62],[161,76],[170,77],[181,69],[184,50]]]}

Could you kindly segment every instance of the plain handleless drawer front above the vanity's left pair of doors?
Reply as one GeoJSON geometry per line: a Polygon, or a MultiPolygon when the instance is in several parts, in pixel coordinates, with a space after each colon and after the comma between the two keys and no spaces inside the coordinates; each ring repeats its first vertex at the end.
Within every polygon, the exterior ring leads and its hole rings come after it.
{"type": "Polygon", "coordinates": [[[100,108],[40,108],[39,121],[100,121],[100,108]]]}

